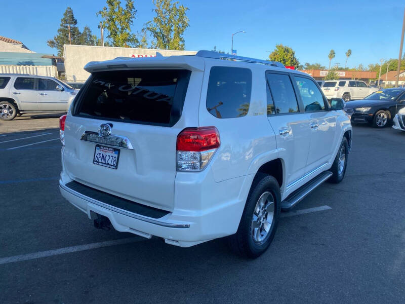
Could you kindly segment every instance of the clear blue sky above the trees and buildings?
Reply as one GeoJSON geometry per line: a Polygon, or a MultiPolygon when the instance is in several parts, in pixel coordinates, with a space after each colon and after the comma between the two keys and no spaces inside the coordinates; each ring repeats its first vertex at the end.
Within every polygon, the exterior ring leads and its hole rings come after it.
{"type": "MultiPolygon", "coordinates": [[[[266,59],[276,44],[293,48],[299,61],[328,66],[328,54],[336,52],[334,63],[367,66],[380,58],[397,58],[404,3],[399,0],[350,1],[221,1],[179,0],[190,10],[190,27],[185,32],[187,50],[230,51],[231,34],[238,55],[266,59]]],[[[2,1],[0,35],[22,41],[38,53],[57,53],[47,46],[67,6],[81,29],[88,25],[99,35],[96,12],[103,0],[2,1]],[[9,13],[8,13],[9,12],[9,13]]],[[[135,0],[137,15],[133,31],[153,18],[151,0],[135,0]]]]}

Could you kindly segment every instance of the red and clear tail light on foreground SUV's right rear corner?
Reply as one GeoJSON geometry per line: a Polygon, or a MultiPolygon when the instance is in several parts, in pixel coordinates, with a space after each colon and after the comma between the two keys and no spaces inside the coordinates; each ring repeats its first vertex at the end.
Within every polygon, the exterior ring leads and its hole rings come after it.
{"type": "Polygon", "coordinates": [[[177,135],[177,170],[203,170],[210,162],[219,145],[219,133],[215,127],[184,129],[177,135]]]}

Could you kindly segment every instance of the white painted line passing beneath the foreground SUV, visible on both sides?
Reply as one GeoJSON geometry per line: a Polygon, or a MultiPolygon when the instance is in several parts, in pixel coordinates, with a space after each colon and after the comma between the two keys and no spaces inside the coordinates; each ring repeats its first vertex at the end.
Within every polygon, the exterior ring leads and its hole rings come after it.
{"type": "MultiPolygon", "coordinates": [[[[325,205],[325,206],[320,206],[320,207],[291,211],[288,213],[281,213],[281,217],[289,217],[289,216],[306,214],[306,213],[311,213],[311,212],[316,212],[316,211],[324,211],[324,210],[329,210],[329,209],[332,209],[332,208],[325,205]]],[[[2,258],[0,258],[0,265],[14,263],[14,262],[27,261],[27,260],[31,260],[31,259],[35,259],[35,258],[42,258],[42,257],[47,257],[47,256],[52,256],[52,255],[59,255],[59,254],[77,252],[77,251],[90,250],[90,249],[95,249],[95,248],[135,243],[135,242],[139,242],[142,240],[146,240],[146,239],[141,238],[141,237],[126,238],[126,239],[120,239],[120,240],[114,240],[114,241],[105,241],[105,242],[99,242],[99,243],[91,243],[91,244],[85,244],[85,245],[64,247],[64,248],[59,248],[59,249],[54,249],[54,250],[14,255],[14,256],[9,256],[9,257],[2,257],[2,258]]]]}

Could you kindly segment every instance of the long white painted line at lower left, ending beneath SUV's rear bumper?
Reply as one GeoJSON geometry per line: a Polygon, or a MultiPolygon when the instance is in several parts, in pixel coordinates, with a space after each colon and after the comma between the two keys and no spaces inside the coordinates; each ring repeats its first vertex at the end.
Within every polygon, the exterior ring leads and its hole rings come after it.
{"type": "Polygon", "coordinates": [[[54,250],[39,251],[39,252],[28,253],[28,254],[14,255],[14,256],[0,258],[0,265],[14,263],[14,262],[21,262],[21,261],[26,261],[26,260],[31,260],[31,259],[35,259],[35,258],[41,258],[41,257],[47,257],[47,256],[52,256],[52,255],[59,255],[59,254],[65,254],[65,253],[71,253],[71,252],[77,252],[77,251],[83,251],[83,250],[89,250],[89,249],[95,249],[95,248],[102,248],[102,247],[108,247],[108,246],[134,243],[134,242],[138,242],[141,240],[143,240],[143,238],[140,238],[140,237],[139,238],[138,237],[126,238],[126,239],[120,239],[120,240],[71,246],[71,247],[59,248],[59,249],[54,249],[54,250]]]}

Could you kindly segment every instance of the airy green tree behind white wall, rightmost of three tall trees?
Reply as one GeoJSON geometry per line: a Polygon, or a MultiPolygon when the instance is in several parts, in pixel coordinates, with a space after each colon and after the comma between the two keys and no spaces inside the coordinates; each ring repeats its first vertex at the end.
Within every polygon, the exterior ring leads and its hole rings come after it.
{"type": "Polygon", "coordinates": [[[152,36],[152,47],[163,50],[184,50],[184,31],[188,27],[186,8],[173,0],[153,0],[156,14],[145,23],[152,36]]]}

